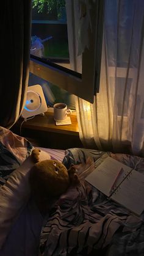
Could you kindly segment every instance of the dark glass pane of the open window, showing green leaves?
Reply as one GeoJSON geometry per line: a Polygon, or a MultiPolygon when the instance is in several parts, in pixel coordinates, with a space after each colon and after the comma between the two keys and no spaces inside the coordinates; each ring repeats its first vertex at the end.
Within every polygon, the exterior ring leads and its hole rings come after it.
{"type": "Polygon", "coordinates": [[[32,1],[31,54],[70,68],[65,0],[32,1]]]}

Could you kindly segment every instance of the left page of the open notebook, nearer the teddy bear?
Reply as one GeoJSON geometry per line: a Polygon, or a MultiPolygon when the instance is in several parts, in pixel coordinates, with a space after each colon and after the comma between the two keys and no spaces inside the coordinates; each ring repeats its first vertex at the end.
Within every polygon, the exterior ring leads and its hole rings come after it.
{"type": "Polygon", "coordinates": [[[118,184],[123,179],[123,175],[127,174],[131,168],[108,156],[103,163],[99,164],[99,166],[85,178],[85,180],[106,196],[110,196],[111,188],[121,168],[123,168],[123,174],[118,177],[118,184]]]}

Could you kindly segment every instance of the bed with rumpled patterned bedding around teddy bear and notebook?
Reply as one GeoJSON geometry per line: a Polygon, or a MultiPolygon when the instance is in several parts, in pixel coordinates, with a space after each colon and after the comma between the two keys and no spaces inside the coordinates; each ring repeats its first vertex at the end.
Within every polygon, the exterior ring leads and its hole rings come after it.
{"type": "Polygon", "coordinates": [[[30,196],[32,148],[25,138],[0,128],[1,256],[144,255],[143,213],[135,216],[84,180],[107,156],[141,173],[143,158],[85,148],[41,148],[67,168],[76,165],[81,179],[43,218],[30,196]]]}

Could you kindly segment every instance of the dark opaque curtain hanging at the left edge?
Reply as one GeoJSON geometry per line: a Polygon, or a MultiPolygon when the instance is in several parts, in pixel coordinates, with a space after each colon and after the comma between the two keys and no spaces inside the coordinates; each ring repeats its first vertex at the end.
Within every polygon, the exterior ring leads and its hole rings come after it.
{"type": "Polygon", "coordinates": [[[31,46],[31,0],[1,1],[0,125],[10,128],[26,100],[31,46]]]}

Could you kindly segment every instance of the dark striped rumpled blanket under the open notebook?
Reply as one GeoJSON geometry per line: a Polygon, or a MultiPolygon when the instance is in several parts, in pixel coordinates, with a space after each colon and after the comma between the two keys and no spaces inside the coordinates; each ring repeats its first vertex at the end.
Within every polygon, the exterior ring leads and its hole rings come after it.
{"type": "Polygon", "coordinates": [[[140,172],[144,170],[144,159],[137,156],[67,150],[63,163],[67,167],[78,164],[81,185],[69,188],[46,216],[39,255],[144,255],[143,215],[134,216],[84,181],[93,170],[93,161],[98,165],[108,155],[140,172]]]}

